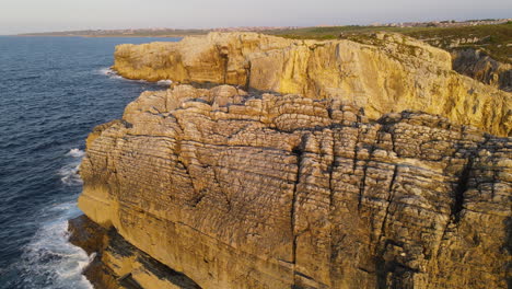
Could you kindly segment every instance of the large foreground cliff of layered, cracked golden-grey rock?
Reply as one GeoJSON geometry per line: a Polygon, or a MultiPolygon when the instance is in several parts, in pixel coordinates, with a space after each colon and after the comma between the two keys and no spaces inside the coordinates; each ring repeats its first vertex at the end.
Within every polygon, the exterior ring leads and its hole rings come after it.
{"type": "Polygon", "coordinates": [[[178,85],[90,135],[79,207],[202,288],[505,288],[511,146],[412,111],[178,85]]]}

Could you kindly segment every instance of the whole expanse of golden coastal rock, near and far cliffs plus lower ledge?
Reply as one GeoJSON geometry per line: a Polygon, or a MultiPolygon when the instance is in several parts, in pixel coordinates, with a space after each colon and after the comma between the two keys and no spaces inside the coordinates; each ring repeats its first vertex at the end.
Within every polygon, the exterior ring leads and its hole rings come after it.
{"type": "Polygon", "coordinates": [[[409,39],[276,38],[116,49],[125,77],[237,86],[144,92],[89,136],[96,288],[507,288],[510,93],[409,39]]]}

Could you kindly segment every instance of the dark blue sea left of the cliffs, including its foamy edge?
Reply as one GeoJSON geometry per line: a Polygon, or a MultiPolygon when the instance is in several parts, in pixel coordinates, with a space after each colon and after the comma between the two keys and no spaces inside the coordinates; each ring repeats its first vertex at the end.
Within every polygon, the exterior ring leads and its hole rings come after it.
{"type": "Polygon", "coordinates": [[[0,37],[0,288],[91,288],[67,242],[91,129],[155,83],[108,74],[120,43],[171,38],[0,37]]]}

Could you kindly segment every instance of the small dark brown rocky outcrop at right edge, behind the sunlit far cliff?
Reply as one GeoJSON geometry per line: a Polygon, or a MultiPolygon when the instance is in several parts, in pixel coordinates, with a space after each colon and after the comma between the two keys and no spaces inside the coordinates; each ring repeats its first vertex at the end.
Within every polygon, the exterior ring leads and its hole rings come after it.
{"type": "Polygon", "coordinates": [[[453,69],[486,84],[512,92],[512,65],[497,61],[477,49],[452,51],[453,69]]]}

